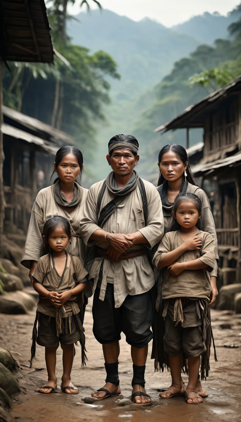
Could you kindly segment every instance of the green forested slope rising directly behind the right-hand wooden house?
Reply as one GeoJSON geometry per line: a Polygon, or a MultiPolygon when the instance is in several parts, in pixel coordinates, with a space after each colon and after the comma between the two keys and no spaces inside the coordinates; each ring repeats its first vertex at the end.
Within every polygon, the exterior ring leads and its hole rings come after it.
{"type": "MultiPolygon", "coordinates": [[[[210,81],[210,86],[191,86],[189,78],[212,68],[225,70],[228,80],[241,74],[241,6],[238,18],[238,22],[229,27],[230,40],[218,39],[214,47],[198,46],[189,57],[176,62],[171,73],[152,90],[155,97],[152,105],[146,108],[133,126],[133,133],[142,145],[142,172],[146,178],[157,168],[155,163],[162,146],[170,142],[186,145],[185,130],[160,135],[154,133],[154,129],[223,84],[217,84],[214,79],[210,81]]],[[[199,141],[202,141],[202,130],[190,130],[190,143],[199,141]]]]}

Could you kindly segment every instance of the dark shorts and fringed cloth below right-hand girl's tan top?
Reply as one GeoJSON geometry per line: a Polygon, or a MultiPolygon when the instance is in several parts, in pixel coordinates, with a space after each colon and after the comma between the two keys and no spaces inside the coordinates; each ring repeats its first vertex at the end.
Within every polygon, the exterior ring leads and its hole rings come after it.
{"type": "Polygon", "coordinates": [[[188,373],[187,356],[201,356],[201,379],[209,376],[211,341],[217,355],[211,328],[208,301],[200,298],[172,298],[162,301],[162,311],[154,320],[152,359],[155,371],[169,371],[168,354],[183,355],[183,372],[188,373]],[[165,336],[164,336],[165,334],[165,336]]]}

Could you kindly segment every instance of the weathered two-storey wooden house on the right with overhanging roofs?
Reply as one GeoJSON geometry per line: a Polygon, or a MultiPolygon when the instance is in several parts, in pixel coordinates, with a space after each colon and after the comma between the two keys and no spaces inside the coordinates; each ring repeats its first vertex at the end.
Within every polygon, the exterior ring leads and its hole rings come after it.
{"type": "MultiPolygon", "coordinates": [[[[222,284],[241,282],[241,76],[156,129],[203,128],[203,157],[192,165],[209,196],[222,284]]],[[[200,140],[202,141],[202,140],[200,140]]]]}

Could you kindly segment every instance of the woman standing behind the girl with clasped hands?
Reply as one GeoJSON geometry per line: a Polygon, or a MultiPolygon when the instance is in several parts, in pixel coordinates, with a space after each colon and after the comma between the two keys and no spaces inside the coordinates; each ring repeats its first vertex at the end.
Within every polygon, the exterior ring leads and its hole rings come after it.
{"type": "MultiPolygon", "coordinates": [[[[79,221],[88,190],[81,187],[83,155],[76,146],[62,146],[56,153],[54,170],[57,173],[54,184],[38,192],[32,207],[22,265],[29,268],[29,277],[37,262],[45,254],[43,250],[43,225],[53,216],[65,217],[71,228],[71,242],[66,251],[76,255],[84,264],[86,247],[79,231],[79,221]]],[[[51,180],[51,179],[50,179],[51,180]]]]}

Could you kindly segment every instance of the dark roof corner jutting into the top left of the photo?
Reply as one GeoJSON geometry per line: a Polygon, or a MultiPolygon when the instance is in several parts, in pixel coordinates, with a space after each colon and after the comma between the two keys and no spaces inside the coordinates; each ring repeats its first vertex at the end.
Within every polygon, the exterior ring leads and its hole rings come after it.
{"type": "Polygon", "coordinates": [[[0,55],[16,62],[53,62],[44,0],[0,1],[0,55]]]}

